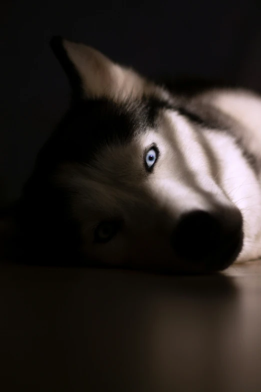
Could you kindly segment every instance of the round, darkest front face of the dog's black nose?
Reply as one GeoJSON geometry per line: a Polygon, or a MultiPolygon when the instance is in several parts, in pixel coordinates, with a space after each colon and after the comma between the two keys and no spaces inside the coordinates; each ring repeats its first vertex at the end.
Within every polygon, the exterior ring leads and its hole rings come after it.
{"type": "Polygon", "coordinates": [[[200,261],[216,247],[220,232],[221,226],[213,215],[192,211],[179,219],[172,234],[172,247],[182,259],[200,261]]]}

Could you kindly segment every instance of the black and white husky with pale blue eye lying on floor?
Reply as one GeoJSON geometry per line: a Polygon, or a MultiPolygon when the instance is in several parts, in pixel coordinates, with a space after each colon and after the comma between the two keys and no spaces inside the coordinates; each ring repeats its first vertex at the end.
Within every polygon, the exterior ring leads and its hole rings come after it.
{"type": "Polygon", "coordinates": [[[18,253],[192,273],[258,258],[261,97],[177,94],[83,44],[51,47],[72,101],[24,187],[18,253]]]}

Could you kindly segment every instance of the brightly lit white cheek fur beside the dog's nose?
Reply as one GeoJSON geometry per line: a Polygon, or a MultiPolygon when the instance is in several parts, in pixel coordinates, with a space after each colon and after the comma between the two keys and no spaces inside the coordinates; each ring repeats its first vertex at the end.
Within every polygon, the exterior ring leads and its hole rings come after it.
{"type": "Polygon", "coordinates": [[[226,133],[206,131],[219,163],[222,189],[243,215],[244,246],[238,261],[261,255],[261,186],[233,138],[226,133]]]}

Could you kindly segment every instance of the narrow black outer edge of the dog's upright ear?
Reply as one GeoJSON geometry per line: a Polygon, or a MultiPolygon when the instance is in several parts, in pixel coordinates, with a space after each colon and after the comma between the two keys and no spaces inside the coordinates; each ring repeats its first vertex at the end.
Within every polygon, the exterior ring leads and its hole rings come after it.
{"type": "Polygon", "coordinates": [[[52,52],[59,61],[63,71],[68,78],[72,89],[72,98],[77,101],[82,96],[81,80],[75,67],[68,58],[68,55],[63,47],[62,41],[63,39],[61,37],[55,36],[51,38],[49,44],[52,49],[52,52]]]}

